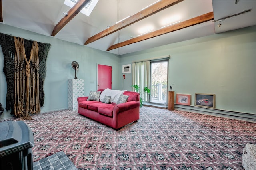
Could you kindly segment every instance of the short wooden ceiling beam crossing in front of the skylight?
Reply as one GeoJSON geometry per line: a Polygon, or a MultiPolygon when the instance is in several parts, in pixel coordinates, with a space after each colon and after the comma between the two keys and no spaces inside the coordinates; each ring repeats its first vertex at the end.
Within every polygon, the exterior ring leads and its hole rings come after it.
{"type": "Polygon", "coordinates": [[[55,36],[70,20],[72,20],[79,12],[84,8],[88,0],[78,0],[76,4],[68,11],[68,14],[64,16],[60,22],[54,27],[52,31],[52,36],[55,36]]]}

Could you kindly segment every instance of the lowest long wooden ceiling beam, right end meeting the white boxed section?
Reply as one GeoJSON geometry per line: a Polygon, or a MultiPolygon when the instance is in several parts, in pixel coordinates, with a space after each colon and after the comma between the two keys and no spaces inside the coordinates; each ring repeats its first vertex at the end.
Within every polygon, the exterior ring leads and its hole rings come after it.
{"type": "Polygon", "coordinates": [[[203,14],[203,15],[197,16],[195,18],[191,18],[189,20],[180,22],[178,24],[174,24],[174,25],[171,25],[171,26],[168,26],[168,27],[165,27],[165,28],[161,28],[161,29],[156,30],[154,32],[150,32],[148,34],[138,36],[136,38],[132,38],[130,40],[126,40],[124,42],[120,42],[120,43],[111,45],[107,49],[107,51],[110,51],[112,49],[116,49],[116,48],[119,48],[119,47],[123,47],[123,46],[129,45],[129,44],[132,44],[132,43],[147,40],[149,38],[153,38],[153,37],[156,37],[156,36],[161,36],[161,35],[167,34],[169,32],[174,32],[176,30],[180,30],[180,29],[183,29],[183,28],[194,26],[196,24],[207,22],[207,21],[210,21],[210,20],[213,20],[213,19],[214,19],[213,12],[209,12],[207,14],[203,14]]]}

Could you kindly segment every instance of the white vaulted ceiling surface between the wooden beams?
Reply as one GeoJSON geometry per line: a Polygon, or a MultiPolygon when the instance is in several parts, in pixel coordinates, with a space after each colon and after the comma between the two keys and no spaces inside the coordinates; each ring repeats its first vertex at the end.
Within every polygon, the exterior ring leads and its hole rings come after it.
{"type": "MultiPolygon", "coordinates": [[[[108,25],[112,26],[154,2],[156,0],[99,0],[89,17],[79,13],[54,37],[83,45],[89,37],[105,30],[108,25]]],[[[2,7],[4,24],[46,36],[51,36],[54,26],[64,16],[63,12],[70,10],[64,5],[64,0],[2,0],[2,7]]],[[[248,9],[252,9],[251,12],[221,21],[219,28],[218,22],[208,21],[108,52],[122,55],[256,25],[256,0],[184,0],[85,46],[106,51],[111,45],[141,34],[138,32],[140,28],[152,26],[153,31],[160,29],[164,26],[162,20],[173,16],[178,16],[182,22],[213,11],[214,20],[219,20],[248,9]]]]}

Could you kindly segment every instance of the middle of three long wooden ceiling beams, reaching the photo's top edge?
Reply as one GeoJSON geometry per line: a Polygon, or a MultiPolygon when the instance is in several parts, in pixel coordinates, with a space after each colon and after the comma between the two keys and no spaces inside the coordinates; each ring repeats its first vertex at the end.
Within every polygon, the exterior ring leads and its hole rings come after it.
{"type": "Polygon", "coordinates": [[[130,16],[129,18],[123,20],[122,22],[118,22],[117,24],[111,26],[110,28],[107,28],[106,30],[103,30],[102,32],[99,32],[98,34],[95,34],[94,36],[88,38],[88,40],[84,43],[84,45],[87,45],[100,38],[108,36],[109,34],[112,34],[122,28],[125,28],[131,24],[134,24],[135,22],[138,22],[144,18],[147,18],[148,16],[151,16],[157,12],[160,12],[182,1],[183,0],[161,0],[153,4],[152,6],[149,6],[148,8],[141,10],[140,12],[130,16]]]}

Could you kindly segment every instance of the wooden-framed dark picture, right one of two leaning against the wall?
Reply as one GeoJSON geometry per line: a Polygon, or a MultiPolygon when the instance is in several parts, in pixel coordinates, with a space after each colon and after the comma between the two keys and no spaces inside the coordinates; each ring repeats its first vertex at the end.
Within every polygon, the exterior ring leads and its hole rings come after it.
{"type": "Polygon", "coordinates": [[[215,108],[215,94],[195,93],[195,106],[215,108]]]}

